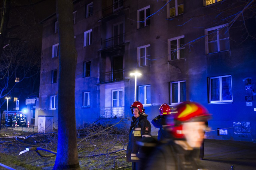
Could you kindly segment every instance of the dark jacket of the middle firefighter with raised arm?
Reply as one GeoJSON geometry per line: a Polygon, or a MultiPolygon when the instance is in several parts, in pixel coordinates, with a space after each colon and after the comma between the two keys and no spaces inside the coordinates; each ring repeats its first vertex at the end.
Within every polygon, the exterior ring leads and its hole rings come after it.
{"type": "Polygon", "coordinates": [[[165,116],[158,115],[151,121],[151,123],[155,128],[159,128],[157,136],[158,141],[170,138],[169,133],[165,130],[167,125],[165,116]]]}

